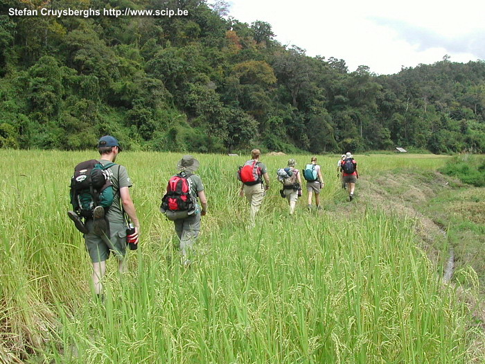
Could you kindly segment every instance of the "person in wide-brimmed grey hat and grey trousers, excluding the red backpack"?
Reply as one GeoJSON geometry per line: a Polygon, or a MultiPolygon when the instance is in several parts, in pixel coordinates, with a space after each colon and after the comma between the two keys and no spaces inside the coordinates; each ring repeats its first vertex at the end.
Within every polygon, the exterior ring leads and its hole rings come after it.
{"type": "Polygon", "coordinates": [[[173,177],[182,176],[186,178],[189,195],[193,197],[193,207],[189,211],[170,211],[166,209],[164,203],[161,206],[161,212],[166,214],[166,217],[173,220],[175,232],[180,241],[180,252],[182,252],[182,263],[188,267],[191,264],[191,255],[193,254],[193,244],[200,232],[200,220],[201,216],[205,216],[207,213],[207,198],[204,192],[204,184],[200,176],[194,174],[199,168],[199,161],[191,155],[184,155],[182,159],[177,162],[177,170],[179,174],[173,175],[173,177]],[[200,200],[197,201],[197,198],[200,200]],[[182,213],[183,216],[179,218],[176,214],[182,213]],[[172,217],[170,217],[170,215],[172,217]]]}

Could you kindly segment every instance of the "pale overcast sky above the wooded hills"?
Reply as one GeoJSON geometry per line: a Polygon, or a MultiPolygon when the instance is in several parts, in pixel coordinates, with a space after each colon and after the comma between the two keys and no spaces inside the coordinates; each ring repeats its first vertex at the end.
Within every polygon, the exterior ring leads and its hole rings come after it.
{"type": "MultiPolygon", "coordinates": [[[[484,0],[226,0],[239,21],[266,21],[276,40],[378,74],[485,59],[484,0]],[[450,5],[448,5],[450,4],[450,5]]],[[[209,0],[208,3],[213,3],[209,0]]]]}

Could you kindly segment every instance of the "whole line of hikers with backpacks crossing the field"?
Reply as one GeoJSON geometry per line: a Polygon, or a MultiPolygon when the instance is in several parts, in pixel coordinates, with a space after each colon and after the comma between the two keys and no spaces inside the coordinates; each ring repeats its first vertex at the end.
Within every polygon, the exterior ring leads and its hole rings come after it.
{"type": "MultiPolygon", "coordinates": [[[[132,182],[125,166],[116,164],[116,157],[122,150],[116,138],[106,135],[98,141],[100,159],[91,159],[78,164],[71,178],[71,205],[73,211],[68,216],[76,228],[84,234],[85,245],[92,263],[93,290],[103,297],[103,277],[106,261],[110,254],[118,259],[118,270],[125,270],[127,248],[136,250],[140,236],[140,223],[130,196],[132,182]]],[[[270,189],[267,167],[260,161],[261,151],[253,149],[252,159],[238,168],[237,177],[241,182],[240,196],[246,197],[250,206],[249,226],[254,227],[256,216],[263,203],[265,193],[270,189]]],[[[288,160],[285,168],[276,172],[281,182],[282,198],[288,200],[290,215],[294,214],[297,200],[302,196],[302,178],[306,180],[308,209],[321,209],[320,191],[324,187],[321,167],[317,158],[312,157],[303,171],[295,168],[297,161],[288,160]]],[[[185,155],[177,162],[177,171],[168,180],[166,193],[161,200],[160,211],[172,220],[179,240],[182,264],[191,266],[193,244],[200,232],[201,216],[207,213],[207,198],[204,184],[195,174],[199,161],[185,155]]],[[[357,162],[351,153],[342,155],[338,173],[342,173],[342,187],[349,189],[349,200],[353,200],[355,182],[358,178],[357,162]]]]}

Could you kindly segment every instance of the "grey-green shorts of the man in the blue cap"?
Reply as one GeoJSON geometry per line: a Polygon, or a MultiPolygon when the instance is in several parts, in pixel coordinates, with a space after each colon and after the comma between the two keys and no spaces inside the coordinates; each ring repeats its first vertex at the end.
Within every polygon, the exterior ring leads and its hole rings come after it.
{"type": "Polygon", "coordinates": [[[110,252],[123,258],[126,254],[126,225],[125,223],[109,223],[109,240],[103,240],[93,232],[93,220],[87,220],[85,226],[89,234],[85,234],[86,249],[93,263],[105,261],[110,252]],[[107,244],[109,242],[109,245],[107,244]]]}

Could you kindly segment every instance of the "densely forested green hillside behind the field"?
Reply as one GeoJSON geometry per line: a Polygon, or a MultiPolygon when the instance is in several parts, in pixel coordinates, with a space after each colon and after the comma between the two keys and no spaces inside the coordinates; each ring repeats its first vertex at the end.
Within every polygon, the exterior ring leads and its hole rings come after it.
{"type": "Polygon", "coordinates": [[[136,150],[484,152],[485,63],[445,56],[390,76],[349,72],[279,44],[271,24],[228,17],[223,1],[0,0],[0,146],[77,150],[107,133],[136,150]]]}

